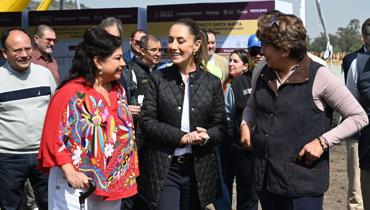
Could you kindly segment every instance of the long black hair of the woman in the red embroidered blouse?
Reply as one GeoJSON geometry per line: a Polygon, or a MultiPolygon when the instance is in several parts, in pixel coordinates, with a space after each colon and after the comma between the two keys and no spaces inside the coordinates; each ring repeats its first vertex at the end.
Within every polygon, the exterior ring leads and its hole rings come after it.
{"type": "MultiPolygon", "coordinates": [[[[99,26],[88,28],[83,39],[77,46],[71,69],[55,91],[61,89],[68,82],[79,78],[83,79],[79,82],[83,86],[92,87],[95,84],[97,70],[94,57],[98,56],[102,61],[105,61],[117,48],[121,47],[122,43],[120,37],[108,33],[99,26]]],[[[114,83],[118,84],[117,81],[114,83]]],[[[118,87],[120,86],[118,85],[118,87]]]]}

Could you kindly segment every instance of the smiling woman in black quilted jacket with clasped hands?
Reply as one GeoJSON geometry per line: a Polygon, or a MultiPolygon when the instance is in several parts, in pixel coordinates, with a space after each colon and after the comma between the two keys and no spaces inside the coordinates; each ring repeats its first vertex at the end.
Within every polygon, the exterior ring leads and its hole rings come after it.
{"type": "Polygon", "coordinates": [[[206,37],[194,20],[172,25],[168,51],[174,65],[152,71],[139,117],[151,143],[138,191],[155,209],[204,209],[222,197],[213,150],[227,130],[222,84],[206,71],[206,37]]]}

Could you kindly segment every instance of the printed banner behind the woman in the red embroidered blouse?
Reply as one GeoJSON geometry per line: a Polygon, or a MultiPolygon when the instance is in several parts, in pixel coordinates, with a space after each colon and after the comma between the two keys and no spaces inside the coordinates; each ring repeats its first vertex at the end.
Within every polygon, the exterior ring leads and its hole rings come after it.
{"type": "Polygon", "coordinates": [[[122,20],[124,39],[122,51],[129,49],[129,38],[138,29],[138,7],[113,9],[84,9],[84,10],[53,10],[29,11],[28,26],[31,36],[40,24],[53,28],[58,43],[55,44],[51,55],[58,63],[61,80],[65,77],[72,64],[77,45],[83,40],[83,34],[91,26],[97,26],[103,19],[115,17],[122,20]]]}

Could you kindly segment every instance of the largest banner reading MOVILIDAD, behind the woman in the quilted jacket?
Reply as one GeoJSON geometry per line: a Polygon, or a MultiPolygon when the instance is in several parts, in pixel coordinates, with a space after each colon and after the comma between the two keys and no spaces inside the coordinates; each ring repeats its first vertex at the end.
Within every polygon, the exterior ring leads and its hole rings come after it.
{"type": "Polygon", "coordinates": [[[233,3],[172,4],[147,7],[147,29],[158,36],[165,49],[161,62],[168,62],[168,31],[182,18],[195,20],[202,29],[216,33],[215,52],[228,59],[235,49],[246,49],[248,38],[256,33],[257,19],[275,9],[275,1],[233,3]]]}

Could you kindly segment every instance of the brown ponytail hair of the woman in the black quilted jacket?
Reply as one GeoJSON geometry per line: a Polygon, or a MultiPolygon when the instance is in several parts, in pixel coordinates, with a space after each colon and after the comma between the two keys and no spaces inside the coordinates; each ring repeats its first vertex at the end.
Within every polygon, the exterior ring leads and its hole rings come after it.
{"type": "Polygon", "coordinates": [[[199,49],[195,52],[194,55],[194,63],[196,66],[201,65],[203,72],[205,73],[207,71],[207,62],[208,62],[208,43],[206,39],[206,35],[201,30],[201,27],[199,27],[198,23],[196,23],[194,20],[190,18],[184,18],[176,21],[172,26],[174,25],[181,25],[188,27],[189,34],[193,37],[194,43],[198,40],[201,40],[201,46],[199,49]]]}

